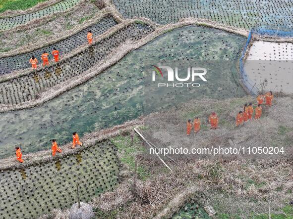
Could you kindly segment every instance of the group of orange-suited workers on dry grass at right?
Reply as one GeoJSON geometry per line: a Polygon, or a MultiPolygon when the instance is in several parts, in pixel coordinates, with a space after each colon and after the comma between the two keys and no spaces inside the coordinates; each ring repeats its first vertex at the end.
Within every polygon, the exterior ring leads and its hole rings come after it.
{"type": "MultiPolygon", "coordinates": [[[[262,107],[261,105],[264,102],[264,99],[266,100],[266,106],[272,106],[274,95],[272,91],[267,92],[265,95],[260,93],[260,95],[257,96],[257,107],[255,108],[255,115],[254,119],[259,120],[262,113],[262,107]]],[[[236,115],[236,126],[242,125],[244,122],[247,122],[248,120],[252,120],[253,117],[253,106],[252,103],[249,103],[247,106],[247,103],[244,104],[243,112],[239,111],[239,113],[236,115]]],[[[212,114],[209,116],[209,123],[211,124],[211,129],[217,129],[219,124],[219,117],[215,112],[212,112],[212,114]]],[[[190,132],[194,128],[194,134],[196,134],[200,130],[200,119],[198,117],[195,117],[193,124],[191,124],[191,120],[189,119],[187,121],[186,125],[186,133],[187,135],[190,135],[190,132]]]]}

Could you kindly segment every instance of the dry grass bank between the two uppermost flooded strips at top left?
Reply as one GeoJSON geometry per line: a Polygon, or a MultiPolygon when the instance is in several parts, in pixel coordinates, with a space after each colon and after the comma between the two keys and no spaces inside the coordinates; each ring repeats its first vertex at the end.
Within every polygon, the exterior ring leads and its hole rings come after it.
{"type": "Polygon", "coordinates": [[[54,44],[67,38],[88,26],[96,23],[106,9],[99,10],[95,4],[82,0],[75,7],[41,19],[35,19],[26,25],[1,33],[0,45],[9,51],[1,53],[1,57],[21,54],[34,49],[54,44]],[[79,23],[83,17],[91,16],[89,20],[79,23]],[[40,30],[52,34],[40,34],[40,30]],[[38,34],[37,34],[38,33],[38,34]]]}

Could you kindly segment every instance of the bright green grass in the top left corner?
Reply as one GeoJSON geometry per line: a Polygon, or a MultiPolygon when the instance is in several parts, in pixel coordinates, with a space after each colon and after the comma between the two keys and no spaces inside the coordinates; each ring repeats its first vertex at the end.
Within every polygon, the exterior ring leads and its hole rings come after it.
{"type": "Polygon", "coordinates": [[[46,0],[0,0],[0,13],[6,10],[25,10],[46,0]]]}

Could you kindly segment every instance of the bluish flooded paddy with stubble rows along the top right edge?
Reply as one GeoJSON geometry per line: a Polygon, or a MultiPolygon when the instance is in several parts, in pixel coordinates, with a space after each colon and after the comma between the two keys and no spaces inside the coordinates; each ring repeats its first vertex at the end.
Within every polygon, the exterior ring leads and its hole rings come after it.
{"type": "Polygon", "coordinates": [[[248,30],[293,29],[292,0],[114,0],[114,4],[123,17],[147,17],[161,24],[195,17],[248,30]]]}

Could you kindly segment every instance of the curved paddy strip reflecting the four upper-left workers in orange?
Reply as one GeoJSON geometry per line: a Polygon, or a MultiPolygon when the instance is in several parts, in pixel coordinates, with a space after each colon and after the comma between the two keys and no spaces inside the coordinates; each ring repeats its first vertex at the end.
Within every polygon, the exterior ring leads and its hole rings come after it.
{"type": "Polygon", "coordinates": [[[88,47],[78,54],[60,61],[57,65],[32,72],[0,84],[0,104],[19,104],[37,98],[38,92],[78,77],[100,62],[126,40],[135,42],[152,32],[151,27],[131,24],[88,47]]]}

